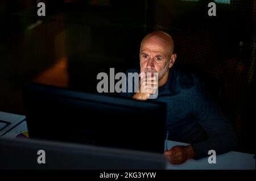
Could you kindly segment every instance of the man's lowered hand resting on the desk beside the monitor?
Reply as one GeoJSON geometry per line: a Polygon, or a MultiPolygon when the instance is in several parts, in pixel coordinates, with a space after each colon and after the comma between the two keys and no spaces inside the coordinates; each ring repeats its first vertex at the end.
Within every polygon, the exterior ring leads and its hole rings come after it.
{"type": "Polygon", "coordinates": [[[174,146],[172,149],[164,151],[169,163],[181,164],[187,159],[194,158],[196,156],[195,150],[191,145],[188,146],[174,146]]]}

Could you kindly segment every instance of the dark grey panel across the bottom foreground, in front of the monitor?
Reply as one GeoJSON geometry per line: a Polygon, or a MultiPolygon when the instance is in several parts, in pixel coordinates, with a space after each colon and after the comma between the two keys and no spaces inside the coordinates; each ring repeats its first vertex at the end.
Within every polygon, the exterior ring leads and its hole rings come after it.
{"type": "MultiPolygon", "coordinates": [[[[166,169],[164,154],[56,141],[0,137],[0,170],[166,169]],[[44,164],[38,158],[44,151],[44,164]]],[[[42,159],[39,159],[42,161],[42,159]]]]}

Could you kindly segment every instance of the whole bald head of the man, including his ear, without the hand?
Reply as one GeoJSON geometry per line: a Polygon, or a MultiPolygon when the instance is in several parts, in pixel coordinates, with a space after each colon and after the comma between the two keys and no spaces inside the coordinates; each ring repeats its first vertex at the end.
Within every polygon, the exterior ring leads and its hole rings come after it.
{"type": "Polygon", "coordinates": [[[139,59],[141,72],[157,72],[159,86],[164,85],[176,60],[172,37],[163,31],[148,34],[141,41],[139,59]]]}

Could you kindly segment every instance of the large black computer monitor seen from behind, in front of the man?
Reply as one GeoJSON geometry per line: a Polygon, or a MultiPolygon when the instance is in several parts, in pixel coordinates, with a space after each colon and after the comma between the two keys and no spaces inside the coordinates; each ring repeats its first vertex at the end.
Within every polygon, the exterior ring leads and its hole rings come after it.
{"type": "Polygon", "coordinates": [[[26,83],[31,138],[163,153],[166,104],[26,83]]]}

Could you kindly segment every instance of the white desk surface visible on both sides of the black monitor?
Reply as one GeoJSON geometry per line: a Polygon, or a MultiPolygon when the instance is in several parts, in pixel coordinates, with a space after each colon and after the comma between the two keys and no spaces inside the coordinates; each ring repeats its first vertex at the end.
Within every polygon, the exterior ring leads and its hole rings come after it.
{"type": "MultiPolygon", "coordinates": [[[[2,120],[20,120],[20,124],[16,124],[13,129],[6,132],[3,137],[15,138],[20,135],[20,133],[27,132],[26,117],[20,115],[14,115],[10,113],[0,112],[0,119],[2,120]]],[[[168,141],[168,149],[171,149],[176,145],[188,145],[182,142],[168,141]]],[[[208,163],[208,157],[201,158],[199,160],[189,159],[185,163],[180,165],[172,165],[167,163],[167,169],[249,169],[255,170],[255,158],[253,154],[241,153],[238,151],[230,151],[229,153],[221,154],[216,156],[216,163],[208,163]]]]}

